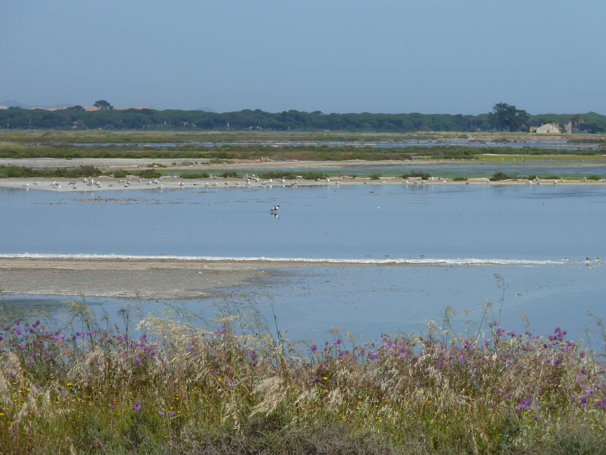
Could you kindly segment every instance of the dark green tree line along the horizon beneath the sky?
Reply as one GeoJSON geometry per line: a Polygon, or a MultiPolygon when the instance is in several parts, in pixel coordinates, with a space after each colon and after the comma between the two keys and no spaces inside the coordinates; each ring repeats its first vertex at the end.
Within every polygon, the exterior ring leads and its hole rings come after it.
{"type": "MultiPolygon", "coordinates": [[[[104,101],[107,103],[107,101],[104,101]]],[[[568,123],[576,120],[576,130],[590,133],[606,131],[606,116],[587,114],[528,115],[505,103],[494,105],[493,112],[480,115],[422,113],[330,113],[288,110],[271,113],[261,109],[239,112],[202,110],[111,109],[88,112],[80,106],[48,111],[9,107],[0,110],[2,129],[107,129],[107,130],[342,130],[350,132],[476,132],[490,130],[528,131],[542,123],[568,123]],[[511,109],[513,108],[513,109],[511,109]]]]}

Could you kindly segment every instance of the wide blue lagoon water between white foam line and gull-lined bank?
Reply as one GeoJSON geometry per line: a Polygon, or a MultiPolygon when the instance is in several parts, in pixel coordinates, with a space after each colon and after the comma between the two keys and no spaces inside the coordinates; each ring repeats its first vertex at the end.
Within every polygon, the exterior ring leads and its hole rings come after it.
{"type": "Polygon", "coordinates": [[[0,204],[0,254],[606,258],[603,186],[331,184],[78,195],[0,189],[0,204]],[[269,212],[275,205],[277,217],[269,212]]]}

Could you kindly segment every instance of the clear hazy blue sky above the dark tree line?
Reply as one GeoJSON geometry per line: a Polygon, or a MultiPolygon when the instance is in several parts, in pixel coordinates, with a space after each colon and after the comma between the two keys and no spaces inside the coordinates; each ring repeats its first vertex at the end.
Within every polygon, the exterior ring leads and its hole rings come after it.
{"type": "Polygon", "coordinates": [[[605,0],[0,0],[0,101],[606,113],[605,0]]]}

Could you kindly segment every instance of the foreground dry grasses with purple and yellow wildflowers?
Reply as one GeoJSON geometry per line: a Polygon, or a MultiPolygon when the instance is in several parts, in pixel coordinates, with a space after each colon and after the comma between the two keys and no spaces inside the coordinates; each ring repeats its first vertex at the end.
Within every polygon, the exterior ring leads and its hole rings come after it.
{"type": "Polygon", "coordinates": [[[133,331],[127,309],[119,327],[70,305],[63,328],[0,328],[2,454],[606,453],[604,366],[561,328],[486,316],[459,337],[447,311],[425,334],[316,345],[254,311],[133,331]]]}

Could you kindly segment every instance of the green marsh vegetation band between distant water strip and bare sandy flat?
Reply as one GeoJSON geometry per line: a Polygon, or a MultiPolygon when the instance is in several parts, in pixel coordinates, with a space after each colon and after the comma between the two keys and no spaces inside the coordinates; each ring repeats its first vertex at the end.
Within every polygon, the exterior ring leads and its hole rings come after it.
{"type": "Polygon", "coordinates": [[[414,158],[433,160],[471,161],[524,161],[524,160],[603,160],[604,150],[536,149],[512,147],[470,146],[328,146],[309,144],[271,146],[263,144],[218,144],[205,146],[196,143],[179,143],[177,146],[145,147],[136,145],[75,146],[69,143],[24,143],[0,140],[0,158],[164,158],[208,160],[201,164],[222,164],[227,160],[273,161],[344,161],[344,160],[395,160],[414,158]],[[481,153],[479,153],[481,152],[481,153]],[[498,156],[495,156],[498,155],[498,156]],[[522,158],[519,156],[522,155],[522,158]]]}

